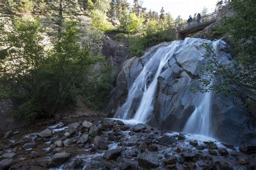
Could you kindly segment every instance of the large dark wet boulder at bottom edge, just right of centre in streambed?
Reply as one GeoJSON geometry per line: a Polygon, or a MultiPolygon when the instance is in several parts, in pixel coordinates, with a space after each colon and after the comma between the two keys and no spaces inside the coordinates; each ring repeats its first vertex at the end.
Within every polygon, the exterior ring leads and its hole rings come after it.
{"type": "Polygon", "coordinates": [[[158,155],[156,153],[144,152],[139,155],[139,166],[144,168],[157,168],[158,155]]]}

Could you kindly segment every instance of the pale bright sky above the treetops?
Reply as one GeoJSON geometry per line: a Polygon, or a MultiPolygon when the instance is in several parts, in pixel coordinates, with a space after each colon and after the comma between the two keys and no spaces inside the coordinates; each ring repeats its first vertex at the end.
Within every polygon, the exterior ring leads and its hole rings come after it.
{"type": "MultiPolygon", "coordinates": [[[[128,0],[132,4],[133,0],[128,0]]],[[[170,12],[172,17],[176,19],[180,15],[183,19],[188,19],[188,16],[194,15],[196,12],[201,12],[206,6],[208,13],[215,9],[215,4],[218,0],[144,0],[143,6],[160,13],[162,7],[165,12],[170,12]]]]}

